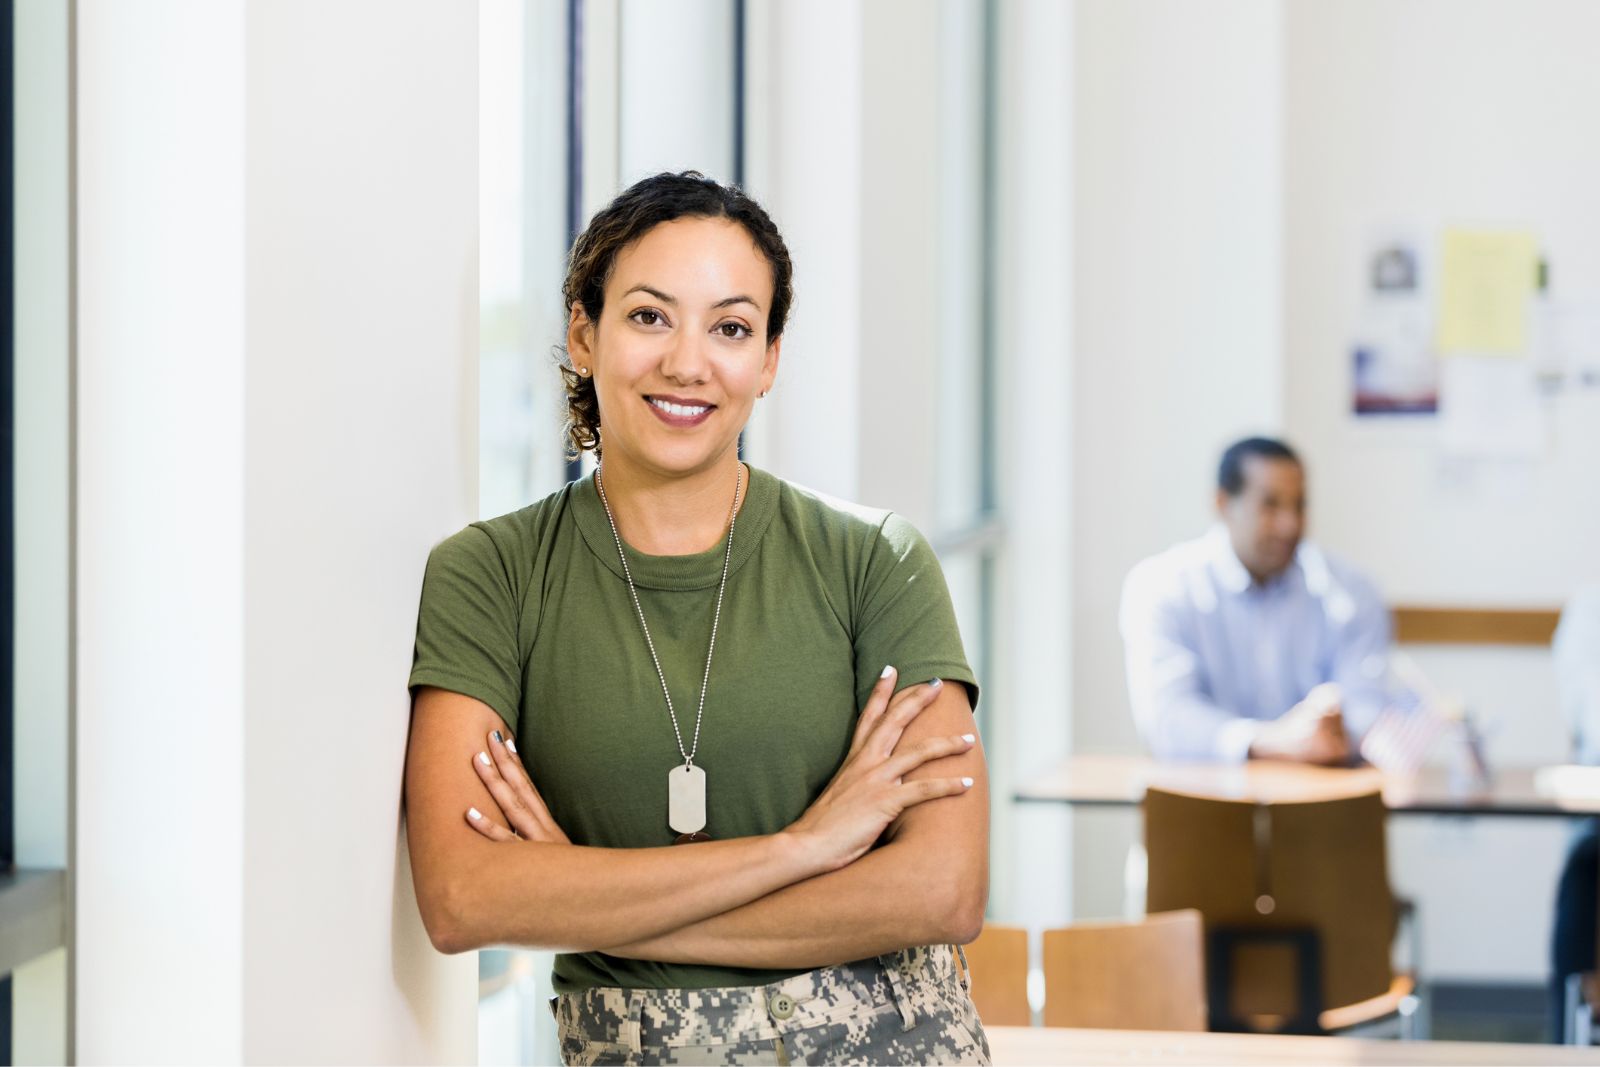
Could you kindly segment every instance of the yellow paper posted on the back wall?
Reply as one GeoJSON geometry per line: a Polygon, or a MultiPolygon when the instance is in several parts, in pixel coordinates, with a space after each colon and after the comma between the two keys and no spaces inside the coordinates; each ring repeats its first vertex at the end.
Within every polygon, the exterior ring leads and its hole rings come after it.
{"type": "Polygon", "coordinates": [[[1539,248],[1528,230],[1445,230],[1438,352],[1525,355],[1539,248]]]}

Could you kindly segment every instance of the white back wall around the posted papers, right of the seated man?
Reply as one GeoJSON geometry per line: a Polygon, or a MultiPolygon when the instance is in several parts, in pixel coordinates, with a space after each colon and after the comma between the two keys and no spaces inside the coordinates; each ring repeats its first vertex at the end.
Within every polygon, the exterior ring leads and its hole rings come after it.
{"type": "MultiPolygon", "coordinates": [[[[1552,448],[1525,464],[1445,464],[1427,419],[1347,414],[1378,227],[1525,226],[1550,259],[1552,298],[1600,306],[1600,142],[1584,134],[1597,38],[1600,8],[1581,0],[1288,8],[1286,421],[1310,462],[1317,534],[1394,601],[1557,606],[1600,577],[1600,390],[1552,402],[1552,448]]],[[[1546,651],[1416,657],[1490,721],[1501,763],[1566,758],[1546,651]]],[[[1429,966],[1541,981],[1563,837],[1557,824],[1398,824],[1395,880],[1424,902],[1429,966]]]]}

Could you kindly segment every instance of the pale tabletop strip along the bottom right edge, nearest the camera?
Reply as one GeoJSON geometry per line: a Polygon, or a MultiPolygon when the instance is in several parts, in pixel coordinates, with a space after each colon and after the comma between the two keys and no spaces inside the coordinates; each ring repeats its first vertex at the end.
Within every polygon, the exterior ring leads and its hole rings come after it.
{"type": "Polygon", "coordinates": [[[1371,1041],[1262,1033],[986,1027],[1006,1064],[1595,1064],[1600,1049],[1488,1041],[1371,1041]]]}

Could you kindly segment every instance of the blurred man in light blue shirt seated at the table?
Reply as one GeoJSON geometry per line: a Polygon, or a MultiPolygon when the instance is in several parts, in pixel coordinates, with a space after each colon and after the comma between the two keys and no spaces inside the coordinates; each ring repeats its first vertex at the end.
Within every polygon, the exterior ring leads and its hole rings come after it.
{"type": "Polygon", "coordinates": [[[1349,763],[1384,709],[1387,609],[1302,542],[1306,470],[1285,443],[1222,454],[1216,514],[1123,584],[1139,733],[1160,760],[1349,763]]]}

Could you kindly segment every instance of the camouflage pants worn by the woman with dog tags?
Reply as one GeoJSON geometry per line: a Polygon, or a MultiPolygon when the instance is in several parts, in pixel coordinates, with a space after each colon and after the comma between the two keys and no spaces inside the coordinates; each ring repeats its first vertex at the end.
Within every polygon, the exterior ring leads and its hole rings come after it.
{"type": "Polygon", "coordinates": [[[949,945],[771,985],[589,989],[554,1003],[568,1064],[987,1064],[949,945]]]}

